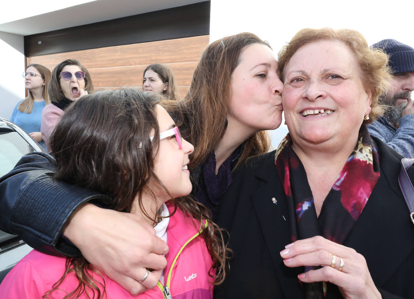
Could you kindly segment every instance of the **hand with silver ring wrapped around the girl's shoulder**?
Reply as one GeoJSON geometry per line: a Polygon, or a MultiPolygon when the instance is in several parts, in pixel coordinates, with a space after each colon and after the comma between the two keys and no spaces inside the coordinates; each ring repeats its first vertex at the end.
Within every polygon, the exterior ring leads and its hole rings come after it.
{"type": "Polygon", "coordinates": [[[86,203],[72,215],[63,235],[89,263],[132,295],[154,288],[167,264],[167,244],[135,214],[86,203]],[[141,284],[145,268],[153,270],[141,284]]]}

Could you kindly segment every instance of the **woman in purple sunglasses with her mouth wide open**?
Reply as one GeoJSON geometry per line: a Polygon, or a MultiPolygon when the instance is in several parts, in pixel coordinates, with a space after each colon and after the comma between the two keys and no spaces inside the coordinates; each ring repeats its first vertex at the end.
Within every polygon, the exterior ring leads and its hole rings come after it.
{"type": "Polygon", "coordinates": [[[67,59],[55,66],[49,84],[51,104],[42,112],[41,133],[50,150],[49,138],[67,106],[94,90],[89,72],[76,59],[67,59]]]}

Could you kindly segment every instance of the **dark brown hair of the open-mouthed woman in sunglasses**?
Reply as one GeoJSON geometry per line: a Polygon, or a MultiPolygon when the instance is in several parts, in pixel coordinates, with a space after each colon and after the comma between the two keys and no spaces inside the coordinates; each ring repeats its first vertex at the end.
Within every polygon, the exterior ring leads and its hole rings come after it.
{"type": "Polygon", "coordinates": [[[52,70],[52,77],[51,82],[49,84],[49,99],[52,103],[59,103],[63,99],[65,99],[65,95],[62,92],[62,87],[60,87],[60,72],[62,72],[62,69],[66,65],[77,65],[82,72],[85,72],[85,90],[88,93],[91,93],[94,91],[94,86],[92,84],[91,75],[89,75],[88,70],[80,64],[80,62],[76,59],[66,59],[55,66],[55,68],[52,70]]]}

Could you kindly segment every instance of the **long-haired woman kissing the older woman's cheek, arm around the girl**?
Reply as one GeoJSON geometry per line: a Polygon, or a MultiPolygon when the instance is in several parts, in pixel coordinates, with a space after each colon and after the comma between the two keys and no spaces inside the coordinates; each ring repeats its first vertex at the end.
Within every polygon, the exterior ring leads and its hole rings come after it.
{"type": "MultiPolygon", "coordinates": [[[[221,196],[233,180],[233,171],[249,157],[269,150],[270,141],[262,130],[276,129],[282,121],[283,84],[277,68],[272,49],[258,36],[251,33],[228,36],[207,46],[185,98],[162,104],[182,128],[183,137],[195,145],[189,165],[193,195],[209,207],[213,217],[221,196]]],[[[26,242],[44,252],[79,254],[80,250],[89,262],[103,269],[132,294],[153,287],[158,280],[157,275],[150,272],[141,284],[142,271],[144,267],[163,269],[165,259],[160,254],[168,248],[154,237],[152,229],[137,217],[126,217],[87,203],[99,197],[99,193],[91,194],[85,189],[55,181],[50,176],[53,158],[34,156],[32,159],[39,159],[39,164],[35,163],[36,168],[43,168],[44,172],[37,172],[39,179],[32,181],[31,188],[25,188],[29,193],[25,198],[31,200],[22,206],[26,209],[31,203],[41,202],[40,206],[30,210],[32,214],[35,210],[36,215],[42,215],[43,220],[37,222],[26,218],[24,227],[42,231],[26,235],[26,242]],[[36,198],[39,194],[42,194],[41,199],[36,198]],[[51,229],[44,219],[55,219],[58,225],[51,229]],[[99,229],[95,230],[89,224],[99,229]],[[39,227],[35,228],[36,225],[39,227]],[[117,234],[119,226],[123,227],[123,236],[117,234]],[[77,248],[61,243],[62,233],[77,248]],[[38,238],[42,239],[41,246],[38,238]],[[45,243],[49,247],[45,247],[45,243]],[[139,250],[131,253],[124,250],[126,247],[139,250]]],[[[21,160],[21,163],[26,162],[21,160]]],[[[8,186],[26,181],[24,176],[29,173],[15,173],[6,180],[10,182],[8,186]]],[[[13,201],[4,207],[4,211],[9,211],[10,206],[15,205],[13,198],[19,192],[7,193],[3,186],[0,183],[0,192],[5,198],[0,205],[13,201]]],[[[21,189],[14,186],[14,190],[21,189]]],[[[0,219],[2,229],[22,234],[9,221],[13,212],[20,213],[21,210],[5,212],[4,219],[0,219]]],[[[19,215],[13,217],[21,218],[19,215]]]]}

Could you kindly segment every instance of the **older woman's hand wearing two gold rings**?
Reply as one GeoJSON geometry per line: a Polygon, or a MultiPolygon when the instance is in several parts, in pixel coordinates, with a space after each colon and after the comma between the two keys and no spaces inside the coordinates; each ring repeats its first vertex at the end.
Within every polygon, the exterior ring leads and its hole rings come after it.
{"type": "Polygon", "coordinates": [[[342,296],[347,299],[381,298],[365,258],[352,248],[315,236],[287,245],[280,255],[288,267],[322,266],[318,270],[298,275],[303,282],[329,281],[337,285],[342,296]],[[341,258],[343,268],[339,271],[341,258]],[[334,261],[335,268],[332,268],[334,261]]]}

